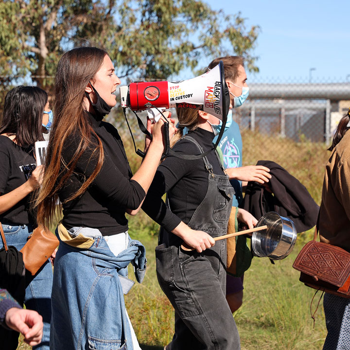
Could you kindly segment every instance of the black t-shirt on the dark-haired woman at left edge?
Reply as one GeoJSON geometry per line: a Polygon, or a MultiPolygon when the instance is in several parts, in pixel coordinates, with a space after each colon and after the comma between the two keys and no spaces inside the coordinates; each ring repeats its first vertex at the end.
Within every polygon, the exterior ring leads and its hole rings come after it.
{"type": "MultiPolygon", "coordinates": [[[[24,184],[35,169],[33,148],[18,146],[8,137],[0,135],[0,193],[6,194],[24,184]]],[[[28,225],[34,223],[29,212],[31,194],[20,200],[11,209],[0,214],[3,223],[28,225]]]]}

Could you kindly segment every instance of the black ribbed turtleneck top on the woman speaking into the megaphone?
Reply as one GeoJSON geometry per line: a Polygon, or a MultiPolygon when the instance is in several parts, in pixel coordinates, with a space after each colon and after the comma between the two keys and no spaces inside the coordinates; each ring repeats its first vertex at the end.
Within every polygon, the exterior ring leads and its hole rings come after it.
{"type": "MultiPolygon", "coordinates": [[[[80,197],[63,204],[63,225],[67,229],[98,228],[104,236],[125,232],[128,229],[125,210],[137,209],[145,192],[138,182],[130,180],[131,169],[117,129],[103,122],[101,117],[97,118],[87,113],[87,118],[102,141],[105,160],[88,190],[80,197]]],[[[91,135],[91,138],[96,139],[96,136],[91,135]]],[[[66,164],[73,157],[79,141],[78,136],[72,135],[65,142],[62,157],[66,164]]],[[[96,164],[97,158],[93,155],[93,148],[88,148],[80,157],[65,188],[59,192],[61,202],[77,192],[83,184],[84,177],[93,173],[96,164]]]]}

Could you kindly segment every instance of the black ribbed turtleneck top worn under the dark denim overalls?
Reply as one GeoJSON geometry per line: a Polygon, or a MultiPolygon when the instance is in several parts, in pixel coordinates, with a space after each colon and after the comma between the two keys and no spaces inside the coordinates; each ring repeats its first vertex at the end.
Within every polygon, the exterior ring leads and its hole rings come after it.
{"type": "MultiPolygon", "coordinates": [[[[213,147],[214,134],[210,131],[197,128],[190,131],[188,136],[196,140],[204,151],[213,147]]],[[[177,141],[173,150],[185,155],[200,154],[198,147],[186,138],[177,141]]],[[[213,167],[213,173],[224,175],[215,152],[210,152],[207,158],[213,167]]],[[[188,224],[207,193],[208,175],[203,158],[187,160],[175,156],[167,157],[157,169],[142,209],[169,232],[181,221],[188,224]],[[162,200],[166,192],[170,210],[162,200]]]]}

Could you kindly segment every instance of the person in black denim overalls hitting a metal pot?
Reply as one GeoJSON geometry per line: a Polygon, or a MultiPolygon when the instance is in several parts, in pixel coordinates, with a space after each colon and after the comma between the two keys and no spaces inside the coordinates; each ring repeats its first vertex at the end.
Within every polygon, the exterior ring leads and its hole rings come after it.
{"type": "MultiPolygon", "coordinates": [[[[180,133],[184,125],[189,133],[175,143],[175,152],[198,155],[212,147],[214,117],[183,109],[177,109],[177,115],[180,133]]],[[[226,240],[215,245],[211,241],[227,233],[233,194],[216,151],[198,160],[167,157],[158,168],[142,209],[161,225],[157,278],[175,309],[175,334],[166,350],[240,349],[226,301],[226,240]],[[167,207],[161,201],[163,191],[167,207]],[[181,244],[191,242],[186,234],[178,234],[181,226],[189,227],[190,236],[205,232],[211,246],[183,250],[181,244]]],[[[250,226],[254,221],[245,210],[237,217],[250,226]]]]}

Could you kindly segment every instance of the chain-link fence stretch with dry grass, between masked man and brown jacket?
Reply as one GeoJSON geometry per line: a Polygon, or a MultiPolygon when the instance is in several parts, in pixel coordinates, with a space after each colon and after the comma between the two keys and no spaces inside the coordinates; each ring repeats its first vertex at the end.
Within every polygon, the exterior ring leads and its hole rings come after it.
{"type": "Polygon", "coordinates": [[[253,83],[234,109],[243,139],[243,165],[279,163],[319,204],[324,167],[340,119],[350,107],[350,83],[253,83]]]}

